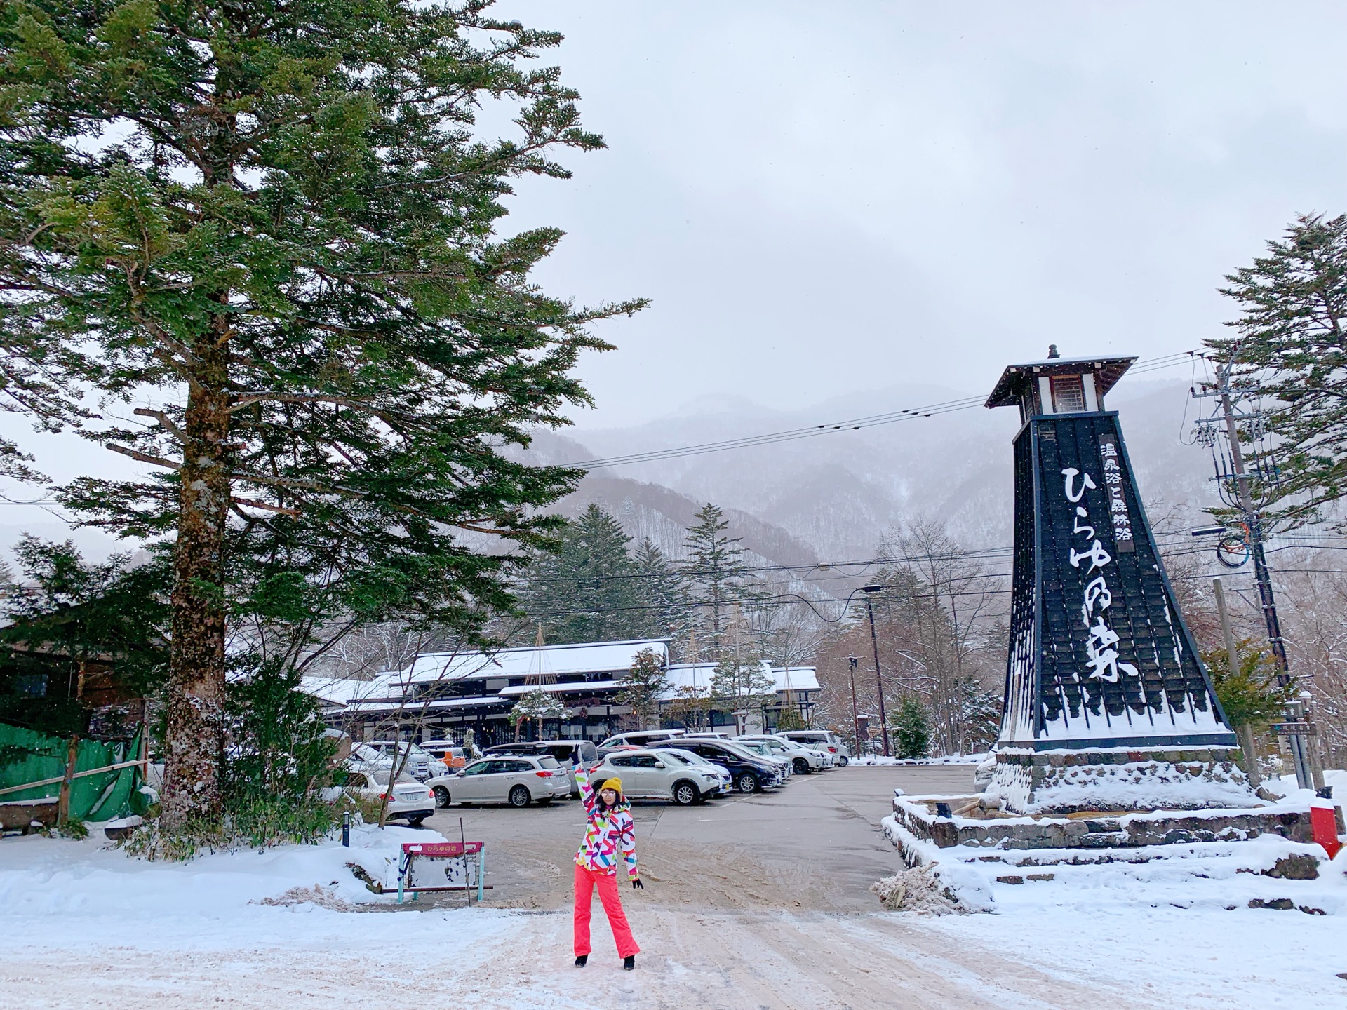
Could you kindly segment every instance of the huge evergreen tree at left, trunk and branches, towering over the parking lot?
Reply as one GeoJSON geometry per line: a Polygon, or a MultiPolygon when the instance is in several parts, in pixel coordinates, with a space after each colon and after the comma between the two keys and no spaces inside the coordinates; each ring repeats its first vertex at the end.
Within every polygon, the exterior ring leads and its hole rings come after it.
{"type": "Polygon", "coordinates": [[[501,447],[587,401],[570,373],[606,345],[586,325],[640,303],[548,298],[528,275],[560,233],[494,237],[513,178],[602,141],[556,69],[524,66],[560,36],[488,7],[0,13],[0,405],[162,467],[62,501],[174,541],[170,830],[221,813],[240,567],[260,558],[255,602],[300,624],[412,607],[473,633],[511,606],[515,560],[461,532],[537,545],[579,478],[501,447]],[[516,137],[475,129],[490,100],[516,137]],[[145,426],[93,424],[89,389],[145,426]]]}

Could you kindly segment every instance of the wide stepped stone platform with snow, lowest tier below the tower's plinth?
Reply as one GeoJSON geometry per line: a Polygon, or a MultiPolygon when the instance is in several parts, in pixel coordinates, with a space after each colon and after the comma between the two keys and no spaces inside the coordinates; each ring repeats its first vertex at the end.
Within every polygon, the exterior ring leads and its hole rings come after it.
{"type": "Polygon", "coordinates": [[[882,831],[909,869],[885,882],[915,874],[954,912],[1048,902],[1111,912],[1149,904],[1347,914],[1347,883],[1323,846],[1309,840],[1303,793],[1258,809],[1033,816],[985,803],[896,795],[882,831]]]}

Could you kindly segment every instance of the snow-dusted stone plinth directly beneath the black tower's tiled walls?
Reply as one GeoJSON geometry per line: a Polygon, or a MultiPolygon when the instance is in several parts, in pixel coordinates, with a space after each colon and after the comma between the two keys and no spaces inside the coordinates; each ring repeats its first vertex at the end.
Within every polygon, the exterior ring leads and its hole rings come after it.
{"type": "Polygon", "coordinates": [[[1001,747],[985,796],[1013,813],[1261,807],[1238,747],[1001,747]]]}

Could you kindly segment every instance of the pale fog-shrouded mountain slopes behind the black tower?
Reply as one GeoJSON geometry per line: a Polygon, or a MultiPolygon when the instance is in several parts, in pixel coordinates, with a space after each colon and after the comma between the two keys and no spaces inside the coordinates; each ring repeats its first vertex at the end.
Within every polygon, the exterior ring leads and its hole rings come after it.
{"type": "MultiPolygon", "coordinates": [[[[1109,396],[1127,439],[1142,497],[1152,509],[1196,512],[1214,504],[1211,461],[1191,444],[1204,401],[1183,380],[1127,380],[1109,396]]],[[[528,454],[578,463],[679,446],[761,435],[958,400],[977,391],[901,384],[807,411],[745,397],[703,397],[659,420],[626,428],[539,432],[528,454]]],[[[683,529],[707,501],[726,509],[734,535],[776,564],[874,558],[885,531],[936,518],[966,547],[1010,543],[1010,442],[1016,411],[981,404],[861,431],[830,431],[766,446],[603,467],[587,475],[559,510],[597,502],[633,537],[682,553],[683,529]]]]}

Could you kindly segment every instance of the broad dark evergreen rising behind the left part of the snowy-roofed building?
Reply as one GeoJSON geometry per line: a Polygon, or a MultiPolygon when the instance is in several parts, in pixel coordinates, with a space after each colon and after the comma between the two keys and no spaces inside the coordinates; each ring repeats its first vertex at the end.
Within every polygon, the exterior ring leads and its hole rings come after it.
{"type": "Polygon", "coordinates": [[[630,539],[598,505],[567,524],[554,552],[539,552],[520,602],[547,641],[602,642],[643,637],[649,619],[630,539]]]}

